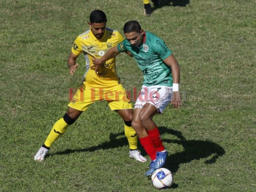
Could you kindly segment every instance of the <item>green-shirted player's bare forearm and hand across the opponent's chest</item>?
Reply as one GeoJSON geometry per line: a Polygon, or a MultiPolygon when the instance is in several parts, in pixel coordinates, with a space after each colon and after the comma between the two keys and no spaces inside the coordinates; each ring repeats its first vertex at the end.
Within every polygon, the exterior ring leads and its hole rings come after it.
{"type": "Polygon", "coordinates": [[[92,60],[93,65],[90,68],[94,68],[95,71],[98,71],[101,64],[104,63],[106,60],[110,60],[111,58],[114,58],[117,56],[120,52],[118,51],[117,47],[110,48],[105,55],[103,55],[101,58],[94,58],[92,60]]]}

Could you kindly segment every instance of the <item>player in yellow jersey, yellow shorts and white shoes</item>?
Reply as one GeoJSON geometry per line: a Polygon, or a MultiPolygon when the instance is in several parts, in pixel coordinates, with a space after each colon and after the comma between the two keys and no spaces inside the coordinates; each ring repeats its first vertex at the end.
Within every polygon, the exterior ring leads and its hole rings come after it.
{"type": "Polygon", "coordinates": [[[84,53],[86,72],[83,86],[73,96],[64,116],[53,125],[45,143],[35,156],[36,161],[44,160],[51,145],[91,104],[106,100],[111,110],[115,110],[124,121],[124,133],[130,146],[130,157],[146,162],[146,158],[137,149],[137,135],[132,128],[133,109],[117,75],[115,58],[104,62],[98,72],[90,68],[94,57],[103,56],[108,49],[116,47],[124,39],[118,31],[107,28],[106,24],[106,14],[95,10],[90,14],[90,29],[75,39],[68,58],[69,73],[73,76],[78,67],[76,58],[84,53]]]}

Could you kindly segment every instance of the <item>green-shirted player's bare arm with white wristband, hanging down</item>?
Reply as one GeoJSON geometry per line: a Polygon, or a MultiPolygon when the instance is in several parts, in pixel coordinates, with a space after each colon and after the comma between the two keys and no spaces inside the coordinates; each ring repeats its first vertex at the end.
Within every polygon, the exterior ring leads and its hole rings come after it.
{"type": "Polygon", "coordinates": [[[182,106],[182,101],[181,101],[181,94],[179,92],[179,83],[180,83],[179,64],[175,59],[175,57],[173,56],[173,54],[171,54],[168,58],[166,58],[164,62],[171,67],[171,73],[173,78],[171,104],[174,106],[174,108],[180,108],[182,106]]]}

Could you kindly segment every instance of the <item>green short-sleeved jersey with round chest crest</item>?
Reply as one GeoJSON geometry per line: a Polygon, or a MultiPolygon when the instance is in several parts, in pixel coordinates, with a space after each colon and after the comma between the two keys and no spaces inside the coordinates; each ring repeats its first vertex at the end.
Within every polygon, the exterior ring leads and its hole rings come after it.
{"type": "Polygon", "coordinates": [[[146,86],[172,86],[171,67],[164,63],[164,59],[171,55],[171,50],[164,41],[146,31],[144,41],[140,47],[134,47],[127,39],[117,45],[119,52],[130,51],[143,72],[146,86]]]}

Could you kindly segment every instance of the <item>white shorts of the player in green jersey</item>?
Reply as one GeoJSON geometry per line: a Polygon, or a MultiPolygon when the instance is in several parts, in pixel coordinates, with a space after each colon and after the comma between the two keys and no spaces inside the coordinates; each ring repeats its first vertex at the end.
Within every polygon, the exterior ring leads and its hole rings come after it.
{"type": "Polygon", "coordinates": [[[150,103],[158,109],[158,113],[162,113],[171,101],[171,94],[172,87],[162,85],[142,85],[134,108],[143,108],[146,103],[150,103]]]}

